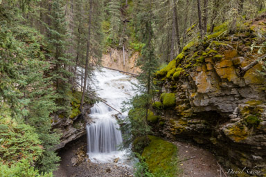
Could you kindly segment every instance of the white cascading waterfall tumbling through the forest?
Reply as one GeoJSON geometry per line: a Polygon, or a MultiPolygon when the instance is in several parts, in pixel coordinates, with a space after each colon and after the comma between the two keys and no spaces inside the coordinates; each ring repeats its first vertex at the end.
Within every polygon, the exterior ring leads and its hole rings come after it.
{"type": "MultiPolygon", "coordinates": [[[[131,82],[136,80],[128,75],[123,75],[118,71],[111,71],[103,68],[101,72],[95,71],[96,93],[103,98],[114,109],[121,112],[123,101],[134,94],[131,82]]],[[[92,162],[112,162],[114,158],[123,160],[124,151],[118,151],[123,139],[119,126],[114,115],[118,111],[107,106],[103,102],[98,102],[91,108],[90,117],[93,124],[87,125],[87,143],[89,158],[92,162]]],[[[127,113],[119,115],[125,118],[127,113]]]]}

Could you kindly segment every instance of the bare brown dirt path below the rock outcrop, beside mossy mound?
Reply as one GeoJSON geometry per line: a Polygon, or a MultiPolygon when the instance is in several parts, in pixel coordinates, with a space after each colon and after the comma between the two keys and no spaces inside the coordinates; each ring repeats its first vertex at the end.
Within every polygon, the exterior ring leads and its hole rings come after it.
{"type": "Polygon", "coordinates": [[[180,177],[218,177],[217,160],[209,151],[188,142],[172,142],[179,149],[179,167],[183,169],[180,177]],[[191,159],[188,159],[191,158],[191,159]],[[188,159],[188,160],[186,160],[188,159]]]}

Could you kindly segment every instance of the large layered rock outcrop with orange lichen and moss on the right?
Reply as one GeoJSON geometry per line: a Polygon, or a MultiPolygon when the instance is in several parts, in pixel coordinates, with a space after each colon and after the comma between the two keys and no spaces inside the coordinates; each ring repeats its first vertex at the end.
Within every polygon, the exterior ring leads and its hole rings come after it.
{"type": "MultiPolygon", "coordinates": [[[[209,145],[226,169],[243,168],[266,174],[266,78],[261,62],[241,74],[265,54],[266,19],[245,24],[237,34],[227,25],[215,28],[203,42],[191,41],[175,60],[157,72],[161,86],[154,113],[161,116],[154,129],[168,138],[189,138],[209,145]],[[175,104],[159,99],[175,93],[175,104]]],[[[252,174],[244,173],[244,176],[252,174]]]]}

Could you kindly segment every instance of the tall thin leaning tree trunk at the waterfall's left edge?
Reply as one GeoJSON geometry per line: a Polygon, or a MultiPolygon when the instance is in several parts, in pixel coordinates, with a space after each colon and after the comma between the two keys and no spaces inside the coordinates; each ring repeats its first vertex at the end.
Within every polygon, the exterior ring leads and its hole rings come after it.
{"type": "Polygon", "coordinates": [[[85,76],[84,76],[84,86],[82,97],[80,101],[80,111],[82,111],[82,106],[85,98],[86,93],[86,86],[87,86],[87,76],[88,76],[88,69],[89,69],[89,49],[91,44],[91,13],[92,13],[92,0],[89,0],[89,30],[88,30],[88,39],[87,39],[87,50],[86,50],[86,64],[85,64],[85,76]]]}

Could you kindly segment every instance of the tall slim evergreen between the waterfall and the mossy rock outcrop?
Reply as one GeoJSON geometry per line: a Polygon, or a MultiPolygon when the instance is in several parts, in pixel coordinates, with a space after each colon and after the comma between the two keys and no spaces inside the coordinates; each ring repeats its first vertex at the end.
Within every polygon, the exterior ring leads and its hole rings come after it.
{"type": "MultiPolygon", "coordinates": [[[[145,44],[141,50],[141,57],[138,59],[138,65],[141,68],[141,73],[137,77],[139,84],[137,86],[137,95],[130,101],[130,112],[128,119],[130,124],[126,124],[126,129],[130,129],[132,136],[125,136],[125,146],[133,142],[133,149],[141,151],[141,149],[148,145],[148,133],[150,127],[148,125],[148,118],[152,116],[151,100],[154,93],[153,77],[157,70],[158,61],[154,55],[153,46],[153,28],[152,28],[152,1],[145,0],[138,3],[141,12],[136,16],[136,21],[139,24],[140,39],[145,44]]],[[[122,128],[123,130],[123,128],[122,128]]]]}

